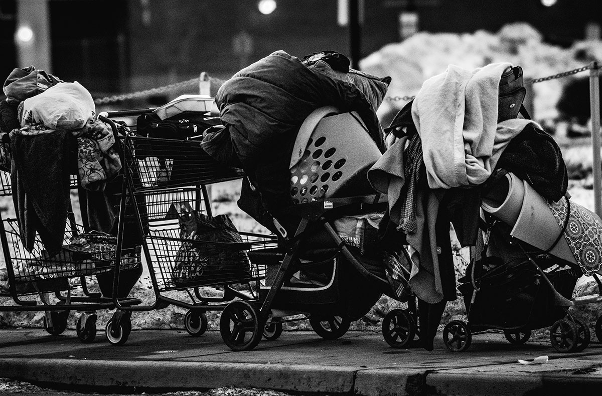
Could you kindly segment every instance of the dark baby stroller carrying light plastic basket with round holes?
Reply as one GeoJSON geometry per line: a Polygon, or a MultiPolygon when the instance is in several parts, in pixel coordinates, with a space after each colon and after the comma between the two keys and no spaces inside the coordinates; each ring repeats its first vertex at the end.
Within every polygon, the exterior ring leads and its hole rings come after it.
{"type": "MultiPolygon", "coordinates": [[[[278,338],[282,324],[299,315],[322,338],[337,339],[383,293],[400,300],[382,264],[386,252],[377,228],[370,226],[386,208],[386,197],[366,178],[380,150],[356,113],[320,108],[308,119],[316,114],[319,123],[303,124],[293,150],[301,153],[290,169],[294,206],[288,213],[299,219],[294,234],[280,225],[289,218],[275,218],[279,247],[249,252],[253,263],[266,267],[259,299],[231,302],[222,312],[220,332],[232,350],[251,350],[262,336],[278,338]]],[[[391,346],[406,345],[415,323],[410,311],[391,311],[383,335],[391,346]]]]}

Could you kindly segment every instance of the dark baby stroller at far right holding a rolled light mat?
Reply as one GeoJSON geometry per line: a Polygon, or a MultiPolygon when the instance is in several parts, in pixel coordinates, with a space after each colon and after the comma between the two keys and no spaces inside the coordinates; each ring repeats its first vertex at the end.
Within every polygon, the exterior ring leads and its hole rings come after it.
{"type": "MultiPolygon", "coordinates": [[[[569,218],[571,201],[561,200],[566,202],[563,228],[558,223],[544,224],[551,212],[526,181],[503,170],[492,179],[493,187],[483,197],[481,238],[466,275],[459,279],[468,322],[453,320],[445,325],[445,346],[465,351],[472,335],[490,329],[503,330],[509,342],[520,345],[532,330],[551,326],[554,349],[562,353],[585,350],[591,339],[589,325],[573,317],[569,308],[602,301],[602,283],[592,271],[598,294],[573,299],[583,271],[562,249],[563,233],[575,225],[573,217],[569,218]],[[526,226],[529,221],[535,223],[526,226]]],[[[556,220],[551,217],[551,221],[556,220]]],[[[602,317],[595,324],[598,339],[601,326],[602,317]]]]}

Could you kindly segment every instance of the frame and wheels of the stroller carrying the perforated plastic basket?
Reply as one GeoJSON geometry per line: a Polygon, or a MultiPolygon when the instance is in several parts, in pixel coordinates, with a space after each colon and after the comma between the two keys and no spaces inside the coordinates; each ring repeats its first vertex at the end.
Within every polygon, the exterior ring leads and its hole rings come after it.
{"type": "MultiPolygon", "coordinates": [[[[342,210],[353,213],[386,202],[386,196],[373,194],[329,198],[324,201],[302,203],[291,207],[288,212],[299,215],[301,220],[292,237],[287,238],[287,235],[281,235],[285,238],[285,249],[284,254],[281,253],[278,259],[279,267],[272,284],[260,289],[264,292],[260,292],[258,300],[232,302],[226,306],[222,314],[220,332],[226,345],[235,351],[252,350],[259,344],[262,335],[268,340],[277,339],[282,333],[283,323],[305,318],[309,318],[309,324],[321,338],[337,339],[347,332],[351,323],[350,319],[328,312],[328,309],[322,309],[319,302],[299,305],[281,298],[282,292],[287,288],[285,281],[302,267],[297,264],[301,253],[302,237],[315,224],[323,225],[330,241],[337,247],[337,253],[341,253],[349,261],[351,267],[349,270],[357,271],[368,282],[374,282],[385,294],[399,299],[391,290],[388,280],[371,273],[361,264],[329,221],[329,217],[332,217],[334,211],[342,210]],[[278,304],[281,306],[275,308],[278,304]],[[295,307],[288,308],[287,304],[295,307]],[[299,309],[299,306],[303,306],[303,308],[299,309]],[[303,315],[303,318],[285,318],[297,315],[303,315]]],[[[318,288],[309,289],[308,293],[317,290],[318,288]]],[[[297,296],[299,293],[293,295],[297,296]]],[[[409,299],[408,309],[394,309],[386,314],[382,323],[382,333],[385,341],[391,347],[406,347],[409,342],[414,340],[418,323],[416,312],[415,300],[409,299]]]]}

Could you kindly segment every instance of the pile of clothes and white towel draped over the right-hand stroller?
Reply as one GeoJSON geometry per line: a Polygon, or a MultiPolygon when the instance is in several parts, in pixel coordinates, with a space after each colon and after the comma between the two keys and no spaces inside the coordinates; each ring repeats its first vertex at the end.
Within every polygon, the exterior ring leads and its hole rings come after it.
{"type": "Polygon", "coordinates": [[[462,246],[476,244],[482,193],[492,176],[518,172],[554,201],[566,193],[560,149],[541,126],[518,116],[523,98],[520,66],[450,65],[427,79],[385,129],[387,150],[368,171],[373,187],[388,194],[381,234],[409,253],[409,262],[401,256],[399,270],[389,272],[409,282],[419,312],[432,310],[421,321],[432,336],[445,302],[456,299],[450,223],[462,246]],[[520,87],[506,95],[509,72],[520,87]]]}

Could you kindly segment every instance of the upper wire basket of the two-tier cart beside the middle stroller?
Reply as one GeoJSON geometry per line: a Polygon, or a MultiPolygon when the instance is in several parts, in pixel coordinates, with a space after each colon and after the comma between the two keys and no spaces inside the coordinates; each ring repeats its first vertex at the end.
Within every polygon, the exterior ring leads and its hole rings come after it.
{"type": "Polygon", "coordinates": [[[211,184],[240,179],[240,169],[226,167],[202,149],[199,140],[125,137],[128,167],[137,169],[134,190],[211,184]]]}

